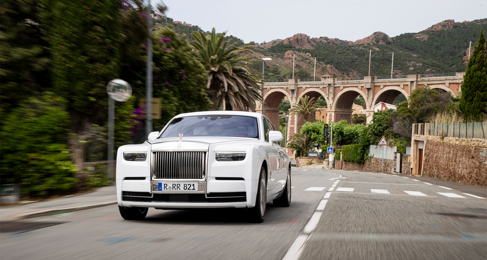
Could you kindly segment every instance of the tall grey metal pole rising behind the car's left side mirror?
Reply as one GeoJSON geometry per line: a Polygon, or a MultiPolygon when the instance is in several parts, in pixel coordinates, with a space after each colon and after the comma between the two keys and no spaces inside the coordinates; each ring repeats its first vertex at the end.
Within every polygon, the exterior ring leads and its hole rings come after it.
{"type": "Polygon", "coordinates": [[[152,40],[150,29],[150,0],[147,5],[147,64],[146,64],[146,136],[152,132],[152,40]]]}

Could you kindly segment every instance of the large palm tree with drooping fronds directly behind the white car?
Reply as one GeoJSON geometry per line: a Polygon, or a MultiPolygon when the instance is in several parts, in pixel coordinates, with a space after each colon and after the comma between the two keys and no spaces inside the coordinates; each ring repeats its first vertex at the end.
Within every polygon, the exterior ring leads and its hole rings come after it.
{"type": "Polygon", "coordinates": [[[210,110],[217,110],[226,102],[226,110],[238,107],[255,111],[255,101],[261,99],[259,72],[246,63],[252,64],[257,58],[243,56],[251,52],[253,44],[240,47],[230,44],[225,41],[225,33],[217,34],[215,28],[209,35],[202,32],[191,35],[195,38],[191,43],[195,54],[208,71],[206,94],[213,103],[210,110]]]}

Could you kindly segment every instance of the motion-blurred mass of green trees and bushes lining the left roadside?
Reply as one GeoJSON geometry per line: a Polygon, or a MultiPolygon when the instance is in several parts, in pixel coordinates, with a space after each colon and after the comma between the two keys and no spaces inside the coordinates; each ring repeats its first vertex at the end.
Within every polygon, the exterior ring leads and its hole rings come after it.
{"type": "MultiPolygon", "coordinates": [[[[106,85],[128,81],[115,103],[115,149],[146,139],[147,27],[143,1],[1,2],[0,178],[24,195],[47,196],[107,185],[106,85]]],[[[170,26],[153,35],[153,97],[161,129],[179,113],[206,110],[206,70],[185,35],[170,26]]]]}

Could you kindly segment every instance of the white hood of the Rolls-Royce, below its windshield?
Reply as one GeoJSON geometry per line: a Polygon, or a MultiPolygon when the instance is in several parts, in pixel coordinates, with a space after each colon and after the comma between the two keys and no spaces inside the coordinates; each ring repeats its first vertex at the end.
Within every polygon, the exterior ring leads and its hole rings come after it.
{"type": "Polygon", "coordinates": [[[209,150],[211,144],[228,142],[257,141],[255,138],[241,137],[183,137],[183,139],[163,138],[147,141],[151,150],[209,150]]]}

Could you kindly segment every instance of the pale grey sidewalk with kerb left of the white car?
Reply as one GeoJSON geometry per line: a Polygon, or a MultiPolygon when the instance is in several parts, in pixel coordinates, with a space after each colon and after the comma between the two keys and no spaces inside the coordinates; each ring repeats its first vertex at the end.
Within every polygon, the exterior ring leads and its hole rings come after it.
{"type": "Polygon", "coordinates": [[[69,198],[54,199],[49,201],[29,203],[18,206],[7,206],[0,208],[0,220],[13,217],[15,215],[37,212],[50,209],[72,208],[81,206],[94,206],[101,203],[116,204],[117,196],[115,186],[101,187],[98,190],[79,196],[69,198]]]}

